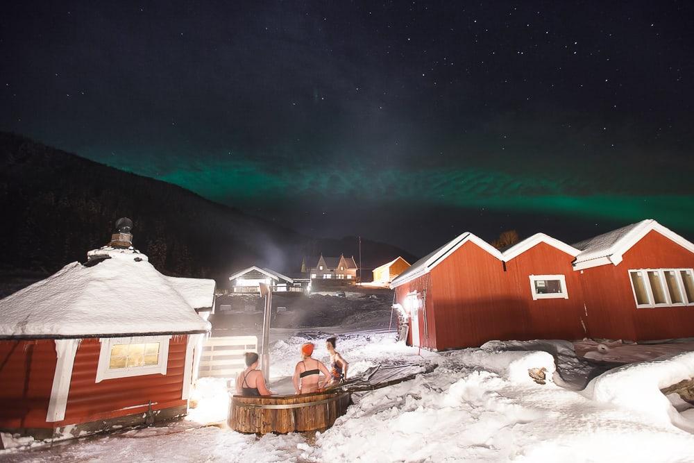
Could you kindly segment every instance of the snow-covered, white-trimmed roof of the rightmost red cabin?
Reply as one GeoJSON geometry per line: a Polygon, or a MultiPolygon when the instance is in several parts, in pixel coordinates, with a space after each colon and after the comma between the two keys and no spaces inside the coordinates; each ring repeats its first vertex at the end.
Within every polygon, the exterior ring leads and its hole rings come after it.
{"type": "Polygon", "coordinates": [[[657,221],[646,219],[574,244],[573,247],[581,251],[576,256],[574,268],[581,270],[604,264],[617,265],[622,262],[624,253],[652,230],[694,253],[692,242],[657,221]]]}

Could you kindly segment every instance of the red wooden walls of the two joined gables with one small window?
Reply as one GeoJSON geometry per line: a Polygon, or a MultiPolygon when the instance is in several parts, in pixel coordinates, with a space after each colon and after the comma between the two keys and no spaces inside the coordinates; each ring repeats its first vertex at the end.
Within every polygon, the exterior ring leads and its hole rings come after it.
{"type": "Polygon", "coordinates": [[[573,256],[540,243],[507,262],[505,270],[498,258],[467,242],[430,273],[397,287],[396,301],[404,305],[408,292],[428,289],[429,339],[422,338],[422,346],[438,350],[491,339],[576,339],[585,335],[585,317],[572,261],[573,256]],[[533,301],[532,274],[564,275],[569,298],[533,301]]]}

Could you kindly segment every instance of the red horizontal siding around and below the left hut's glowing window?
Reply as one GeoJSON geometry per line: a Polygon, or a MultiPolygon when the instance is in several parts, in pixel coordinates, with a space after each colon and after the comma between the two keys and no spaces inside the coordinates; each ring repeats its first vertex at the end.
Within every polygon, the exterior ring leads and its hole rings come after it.
{"type": "Polygon", "coordinates": [[[181,395],[186,341],[187,336],[171,337],[165,376],[153,374],[96,382],[101,343],[98,339],[84,339],[75,355],[65,420],[56,426],[146,412],[149,401],[153,410],[185,405],[187,401],[181,400],[181,395]]]}

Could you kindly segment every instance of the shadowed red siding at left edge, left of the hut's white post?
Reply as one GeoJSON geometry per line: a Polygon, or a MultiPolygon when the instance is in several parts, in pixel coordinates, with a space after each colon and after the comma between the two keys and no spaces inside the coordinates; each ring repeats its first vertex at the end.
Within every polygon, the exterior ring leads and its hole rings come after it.
{"type": "Polygon", "coordinates": [[[56,358],[53,339],[0,341],[0,428],[46,426],[56,358]]]}

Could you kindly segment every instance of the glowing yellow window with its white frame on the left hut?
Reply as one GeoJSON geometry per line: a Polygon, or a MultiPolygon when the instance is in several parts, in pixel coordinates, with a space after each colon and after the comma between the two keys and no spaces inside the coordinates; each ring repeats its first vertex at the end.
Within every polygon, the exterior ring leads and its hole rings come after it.
{"type": "Polygon", "coordinates": [[[101,339],[96,382],[167,373],[171,336],[101,339]]]}

